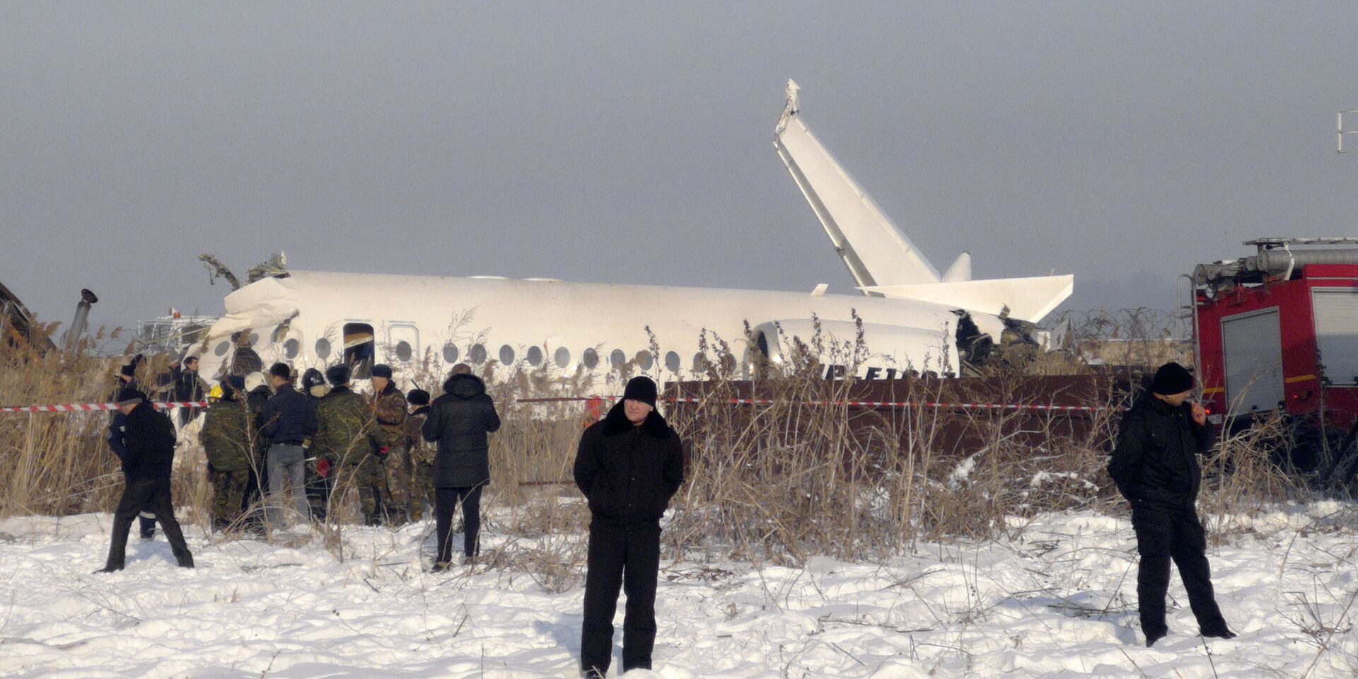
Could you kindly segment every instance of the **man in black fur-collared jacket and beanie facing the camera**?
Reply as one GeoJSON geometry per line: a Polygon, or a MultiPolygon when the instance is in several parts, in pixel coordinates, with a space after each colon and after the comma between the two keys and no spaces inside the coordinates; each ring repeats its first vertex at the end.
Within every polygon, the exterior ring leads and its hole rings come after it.
{"type": "Polygon", "coordinates": [[[656,411],[656,383],[627,382],[622,402],[585,429],[574,477],[589,500],[589,557],[580,668],[602,678],[612,661],[618,588],[627,593],[622,671],[650,669],[656,644],[660,516],[683,483],[683,443],[656,411]]]}

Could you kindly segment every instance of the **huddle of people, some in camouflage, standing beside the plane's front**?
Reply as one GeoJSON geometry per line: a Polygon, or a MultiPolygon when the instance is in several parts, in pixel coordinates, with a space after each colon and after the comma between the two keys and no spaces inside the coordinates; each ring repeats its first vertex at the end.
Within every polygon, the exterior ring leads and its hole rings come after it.
{"type": "Polygon", "coordinates": [[[371,369],[371,397],[354,390],[348,365],[296,375],[282,363],[269,368],[272,395],[251,406],[246,379],[223,380],[202,426],[219,528],[235,526],[247,507],[251,471],[268,478],[274,526],[323,517],[333,493],[352,492],[365,524],[421,520],[435,500],[439,553],[435,569],[452,559],[454,508],[463,508],[464,559],[477,555],[481,489],[490,481],[486,435],[500,428],[485,383],[463,364],[444,394],[397,388],[388,365],[371,369]],[[308,493],[310,490],[310,493],[308,493]],[[319,501],[318,501],[319,500],[319,501]],[[319,507],[318,507],[319,505],[319,507]]]}

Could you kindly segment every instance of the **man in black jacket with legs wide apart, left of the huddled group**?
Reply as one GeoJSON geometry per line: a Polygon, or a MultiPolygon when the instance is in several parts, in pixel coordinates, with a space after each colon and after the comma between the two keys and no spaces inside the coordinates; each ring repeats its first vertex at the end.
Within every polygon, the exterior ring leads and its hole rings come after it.
{"type": "Polygon", "coordinates": [[[147,401],[147,395],[124,388],[118,392],[118,410],[128,417],[125,425],[126,455],[122,458],[122,474],[126,485],[122,500],[113,513],[113,538],[109,545],[109,561],[102,573],[122,570],[126,561],[128,531],[137,512],[149,502],[160,527],[166,531],[170,549],[181,568],[193,568],[193,554],[183,542],[179,521],[174,519],[174,504],[170,498],[170,471],[174,464],[174,424],[147,401]]]}

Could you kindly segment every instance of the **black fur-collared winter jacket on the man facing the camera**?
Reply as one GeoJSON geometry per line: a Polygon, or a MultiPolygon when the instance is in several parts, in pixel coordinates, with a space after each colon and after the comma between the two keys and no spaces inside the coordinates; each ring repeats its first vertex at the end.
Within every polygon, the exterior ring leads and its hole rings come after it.
{"type": "Polygon", "coordinates": [[[683,483],[683,441],[656,411],[633,425],[619,402],[580,437],[574,477],[596,519],[655,524],[683,483]]]}

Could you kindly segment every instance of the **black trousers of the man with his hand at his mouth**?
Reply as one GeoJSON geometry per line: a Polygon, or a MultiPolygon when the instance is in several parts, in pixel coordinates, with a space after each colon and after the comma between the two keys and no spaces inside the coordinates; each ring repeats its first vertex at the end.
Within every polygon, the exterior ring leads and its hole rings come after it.
{"type": "Polygon", "coordinates": [[[1148,636],[1162,636],[1165,626],[1165,593],[1169,591],[1169,561],[1179,566],[1179,577],[1188,591],[1188,606],[1198,618],[1203,634],[1226,629],[1217,599],[1211,592],[1211,568],[1207,565],[1207,536],[1192,508],[1167,509],[1160,507],[1133,507],[1131,527],[1137,531],[1137,607],[1141,630],[1148,636]]]}

